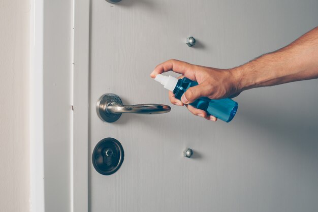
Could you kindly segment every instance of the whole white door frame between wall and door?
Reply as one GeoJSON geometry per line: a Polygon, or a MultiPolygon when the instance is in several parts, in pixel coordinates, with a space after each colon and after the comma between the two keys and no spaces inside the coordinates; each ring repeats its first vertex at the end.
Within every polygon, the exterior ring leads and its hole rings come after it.
{"type": "Polygon", "coordinates": [[[88,211],[89,2],[30,2],[30,211],[88,211]]]}

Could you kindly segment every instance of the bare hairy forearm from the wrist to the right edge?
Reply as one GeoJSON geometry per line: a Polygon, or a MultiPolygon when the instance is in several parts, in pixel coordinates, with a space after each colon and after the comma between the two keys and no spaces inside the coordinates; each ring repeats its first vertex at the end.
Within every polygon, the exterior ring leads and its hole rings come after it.
{"type": "Polygon", "coordinates": [[[234,68],[238,89],[318,78],[318,27],[290,45],[234,68]]]}

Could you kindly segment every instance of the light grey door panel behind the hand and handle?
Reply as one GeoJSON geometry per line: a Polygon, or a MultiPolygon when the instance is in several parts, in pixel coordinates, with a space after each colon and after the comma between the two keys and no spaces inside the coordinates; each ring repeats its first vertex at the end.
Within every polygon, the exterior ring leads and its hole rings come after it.
{"type": "Polygon", "coordinates": [[[91,0],[89,154],[114,138],[124,160],[110,175],[90,160],[90,211],[315,211],[316,80],[243,92],[233,121],[214,123],[171,105],[149,74],[170,58],[241,65],[316,26],[317,9],[309,0],[91,0]],[[190,36],[193,47],[185,44],[190,36]],[[96,103],[108,93],[125,105],[172,109],[107,123],[96,103]]]}

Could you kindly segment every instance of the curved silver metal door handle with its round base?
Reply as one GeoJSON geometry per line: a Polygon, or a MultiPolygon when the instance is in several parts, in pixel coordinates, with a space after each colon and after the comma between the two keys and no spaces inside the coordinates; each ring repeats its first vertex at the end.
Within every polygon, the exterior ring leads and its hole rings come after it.
{"type": "Polygon", "coordinates": [[[170,110],[170,106],[162,104],[123,105],[115,94],[104,94],[96,104],[97,114],[104,122],[115,122],[122,113],[161,114],[170,110]]]}

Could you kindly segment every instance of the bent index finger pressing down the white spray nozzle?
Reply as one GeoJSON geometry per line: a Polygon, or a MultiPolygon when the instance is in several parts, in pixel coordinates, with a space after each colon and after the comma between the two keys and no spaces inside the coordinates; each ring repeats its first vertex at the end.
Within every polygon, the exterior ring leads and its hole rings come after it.
{"type": "Polygon", "coordinates": [[[194,65],[176,59],[169,59],[166,62],[157,65],[150,74],[150,77],[155,78],[157,74],[168,71],[174,71],[191,80],[196,80],[194,65]]]}

